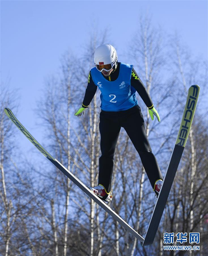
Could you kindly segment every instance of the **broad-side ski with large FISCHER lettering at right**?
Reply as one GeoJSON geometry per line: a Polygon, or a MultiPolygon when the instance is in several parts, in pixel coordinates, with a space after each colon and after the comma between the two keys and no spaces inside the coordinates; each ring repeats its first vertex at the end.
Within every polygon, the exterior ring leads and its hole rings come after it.
{"type": "Polygon", "coordinates": [[[143,242],[143,246],[151,245],[154,242],[155,235],[167,202],[167,198],[170,193],[171,186],[173,184],[173,180],[175,178],[175,174],[179,166],[185,144],[188,139],[189,131],[193,121],[193,116],[197,106],[199,90],[200,87],[198,85],[192,85],[189,88],[187,102],[185,104],[183,118],[179,129],[179,133],[177,135],[175,147],[171,156],[170,163],[168,165],[167,172],[165,174],[161,191],[159,193],[153,214],[151,216],[151,220],[145,236],[145,240],[143,242]]]}

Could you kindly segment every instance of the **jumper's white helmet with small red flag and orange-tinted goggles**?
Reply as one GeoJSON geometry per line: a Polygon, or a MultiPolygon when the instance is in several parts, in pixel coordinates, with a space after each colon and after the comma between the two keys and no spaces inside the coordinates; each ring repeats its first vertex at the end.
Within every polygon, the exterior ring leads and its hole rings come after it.
{"type": "Polygon", "coordinates": [[[98,71],[109,71],[117,67],[118,56],[112,45],[104,44],[97,47],[94,54],[95,67],[98,71]]]}

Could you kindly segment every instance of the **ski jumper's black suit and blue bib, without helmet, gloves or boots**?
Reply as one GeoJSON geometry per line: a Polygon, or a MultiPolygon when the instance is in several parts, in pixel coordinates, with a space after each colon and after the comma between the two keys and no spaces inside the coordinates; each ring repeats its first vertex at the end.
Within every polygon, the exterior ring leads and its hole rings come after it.
{"type": "Polygon", "coordinates": [[[133,70],[132,65],[118,63],[117,69],[109,77],[103,76],[101,72],[93,68],[89,73],[88,86],[83,101],[84,107],[92,101],[97,87],[101,91],[99,131],[102,153],[99,158],[98,184],[103,185],[107,192],[110,192],[114,152],[120,129],[123,127],[139,153],[151,186],[154,188],[155,181],[163,180],[163,177],[151,151],[145,131],[144,118],[135,95],[138,91],[145,103],[148,104],[147,107],[153,105],[144,85],[133,70]],[[137,80],[136,83],[133,82],[136,84],[134,87],[132,80],[137,80]]]}

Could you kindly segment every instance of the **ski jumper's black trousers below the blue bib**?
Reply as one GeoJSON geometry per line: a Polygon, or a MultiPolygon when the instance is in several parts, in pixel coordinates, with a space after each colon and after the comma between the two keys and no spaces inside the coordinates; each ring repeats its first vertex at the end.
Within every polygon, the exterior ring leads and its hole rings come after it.
{"type": "Polygon", "coordinates": [[[113,157],[121,127],[125,129],[139,153],[151,186],[154,188],[155,181],[163,180],[163,177],[157,160],[151,151],[144,127],[144,118],[138,105],[118,112],[101,111],[99,131],[102,155],[99,158],[98,184],[102,184],[107,192],[111,191],[113,157]]]}

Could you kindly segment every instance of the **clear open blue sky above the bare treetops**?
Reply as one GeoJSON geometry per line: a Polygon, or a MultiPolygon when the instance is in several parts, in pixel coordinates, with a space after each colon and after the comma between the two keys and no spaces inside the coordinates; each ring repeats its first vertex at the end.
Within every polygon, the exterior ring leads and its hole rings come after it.
{"type": "MultiPolygon", "coordinates": [[[[10,78],[9,88],[19,89],[18,119],[42,142],[33,110],[43,96],[44,79],[58,72],[61,55],[67,49],[78,56],[81,54],[93,23],[98,28],[110,29],[109,41],[115,42],[121,55],[123,51],[128,52],[139,15],[148,13],[156,26],[160,25],[168,33],[177,31],[192,54],[207,60],[207,3],[1,1],[1,83],[10,78]]],[[[26,141],[20,146],[23,151],[30,147],[26,141]]]]}

